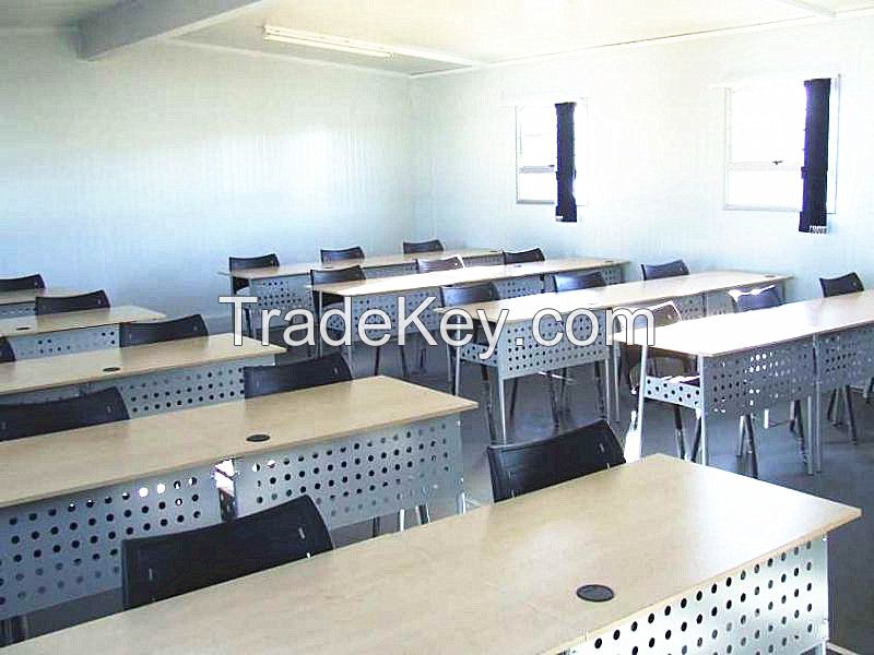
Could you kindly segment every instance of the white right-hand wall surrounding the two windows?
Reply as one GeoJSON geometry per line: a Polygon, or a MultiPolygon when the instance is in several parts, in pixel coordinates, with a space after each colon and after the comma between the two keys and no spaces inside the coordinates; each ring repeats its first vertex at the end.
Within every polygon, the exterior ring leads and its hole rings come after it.
{"type": "Polygon", "coordinates": [[[471,245],[547,254],[684,258],[693,270],[791,273],[796,298],[817,277],[859,270],[874,287],[874,19],[616,48],[414,83],[415,225],[471,245]],[[724,211],[724,92],[761,75],[842,75],[838,213],[827,236],[796,213],[724,211]],[[589,98],[589,205],[579,223],[518,205],[513,99],[589,98]]]}

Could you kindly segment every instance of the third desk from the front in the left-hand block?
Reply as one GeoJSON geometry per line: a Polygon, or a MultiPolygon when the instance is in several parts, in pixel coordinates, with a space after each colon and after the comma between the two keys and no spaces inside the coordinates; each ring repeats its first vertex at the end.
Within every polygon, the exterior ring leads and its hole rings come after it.
{"type": "Polygon", "coordinates": [[[0,403],[68,398],[116,386],[131,417],[243,397],[243,368],[285,350],[217,334],[0,364],[0,403]]]}

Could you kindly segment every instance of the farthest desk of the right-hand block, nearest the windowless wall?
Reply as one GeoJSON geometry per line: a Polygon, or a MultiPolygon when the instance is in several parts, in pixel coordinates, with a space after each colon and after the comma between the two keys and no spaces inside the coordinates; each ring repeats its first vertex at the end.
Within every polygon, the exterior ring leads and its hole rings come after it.
{"type": "Polygon", "coordinates": [[[260,314],[261,310],[270,309],[280,309],[283,312],[291,309],[312,310],[312,293],[307,288],[307,285],[309,284],[309,272],[314,269],[346,269],[357,264],[365,270],[367,277],[374,278],[415,273],[417,259],[445,259],[449,257],[460,257],[468,265],[484,266],[503,262],[500,250],[479,248],[420,254],[383,254],[368,257],[363,260],[344,260],[329,263],[292,263],[263,269],[241,269],[234,272],[221,271],[220,274],[247,281],[250,295],[258,297],[258,303],[250,307],[256,313],[260,314]]]}

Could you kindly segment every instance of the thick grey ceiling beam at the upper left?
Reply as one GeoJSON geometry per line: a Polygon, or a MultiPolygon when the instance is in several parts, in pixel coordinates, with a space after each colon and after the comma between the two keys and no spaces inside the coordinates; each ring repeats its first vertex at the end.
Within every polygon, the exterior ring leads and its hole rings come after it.
{"type": "Polygon", "coordinates": [[[265,0],[123,0],[81,21],[79,56],[97,59],[144,40],[179,36],[265,0]]]}

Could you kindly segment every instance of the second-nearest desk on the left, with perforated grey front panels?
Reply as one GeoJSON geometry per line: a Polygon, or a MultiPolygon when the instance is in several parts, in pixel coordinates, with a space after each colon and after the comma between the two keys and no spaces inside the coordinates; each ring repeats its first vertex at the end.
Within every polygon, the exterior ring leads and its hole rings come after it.
{"type": "Polygon", "coordinates": [[[123,538],[218,523],[226,460],[239,515],[302,488],[332,529],[435,498],[463,511],[475,407],[378,377],[0,443],[0,619],[117,588],[123,538]]]}

